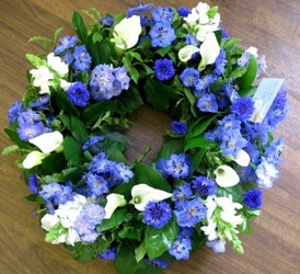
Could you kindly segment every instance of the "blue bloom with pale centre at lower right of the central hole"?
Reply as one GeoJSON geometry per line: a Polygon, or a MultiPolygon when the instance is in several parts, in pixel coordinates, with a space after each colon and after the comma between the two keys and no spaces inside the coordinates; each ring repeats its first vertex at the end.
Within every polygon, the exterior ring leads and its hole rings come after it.
{"type": "Polygon", "coordinates": [[[165,160],[163,170],[174,179],[185,179],[189,174],[189,160],[185,155],[171,155],[170,159],[165,160]]]}

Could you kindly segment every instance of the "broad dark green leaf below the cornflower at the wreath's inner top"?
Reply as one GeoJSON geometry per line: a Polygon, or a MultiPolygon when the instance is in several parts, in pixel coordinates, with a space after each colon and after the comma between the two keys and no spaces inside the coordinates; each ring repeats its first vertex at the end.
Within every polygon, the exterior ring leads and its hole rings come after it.
{"type": "Polygon", "coordinates": [[[178,100],[178,92],[176,89],[166,85],[154,79],[148,79],[145,87],[147,101],[153,109],[168,112],[171,100],[178,100]]]}

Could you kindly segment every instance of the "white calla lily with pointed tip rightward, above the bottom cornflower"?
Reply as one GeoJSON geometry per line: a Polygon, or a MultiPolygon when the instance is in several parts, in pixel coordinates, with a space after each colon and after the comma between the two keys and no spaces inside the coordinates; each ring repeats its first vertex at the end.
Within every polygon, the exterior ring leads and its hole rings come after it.
{"type": "Polygon", "coordinates": [[[172,193],[153,189],[147,184],[137,184],[131,190],[132,199],[130,203],[134,204],[138,210],[143,212],[148,202],[163,201],[170,198],[172,195],[172,193]]]}

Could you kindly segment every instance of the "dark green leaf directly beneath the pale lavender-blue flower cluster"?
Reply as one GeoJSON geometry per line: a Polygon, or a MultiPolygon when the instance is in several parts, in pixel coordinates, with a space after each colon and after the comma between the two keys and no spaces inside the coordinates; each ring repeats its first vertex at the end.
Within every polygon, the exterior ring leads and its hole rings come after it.
{"type": "Polygon", "coordinates": [[[116,101],[104,101],[85,107],[82,114],[82,122],[86,127],[92,127],[99,117],[103,116],[107,111],[113,115],[117,109],[116,101]]]}

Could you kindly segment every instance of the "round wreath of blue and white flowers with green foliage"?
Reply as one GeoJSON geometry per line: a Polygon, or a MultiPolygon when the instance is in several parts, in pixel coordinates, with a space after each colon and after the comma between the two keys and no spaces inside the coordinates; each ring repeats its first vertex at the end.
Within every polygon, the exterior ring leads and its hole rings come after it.
{"type": "Polygon", "coordinates": [[[2,153],[20,152],[46,242],[115,260],[120,274],[161,273],[203,246],[243,253],[239,233],[278,178],[282,80],[259,81],[265,57],[238,46],[218,7],[83,13],[89,30],[74,12],[74,36],[31,39],[48,52],[26,55],[35,68],[8,112],[2,153]],[[127,115],[142,104],[173,123],[153,162],[147,150],[129,165],[127,115]]]}

